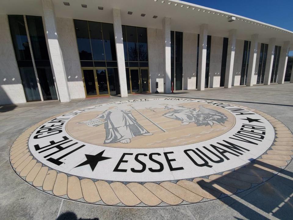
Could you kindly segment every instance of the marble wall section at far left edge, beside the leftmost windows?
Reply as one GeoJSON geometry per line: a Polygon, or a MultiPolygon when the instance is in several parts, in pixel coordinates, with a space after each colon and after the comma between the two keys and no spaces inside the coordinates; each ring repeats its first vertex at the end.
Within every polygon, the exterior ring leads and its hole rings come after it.
{"type": "Polygon", "coordinates": [[[0,105],[26,102],[7,15],[0,15],[0,105]]]}

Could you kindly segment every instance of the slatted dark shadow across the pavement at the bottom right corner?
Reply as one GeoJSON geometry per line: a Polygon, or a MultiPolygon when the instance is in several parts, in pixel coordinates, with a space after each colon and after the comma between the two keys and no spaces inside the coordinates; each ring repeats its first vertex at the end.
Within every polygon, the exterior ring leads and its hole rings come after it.
{"type": "MultiPolygon", "coordinates": [[[[257,161],[256,164],[261,165],[263,168],[255,167],[255,169],[251,169],[250,167],[249,169],[252,170],[251,174],[255,172],[255,176],[259,174],[258,176],[262,177],[260,173],[276,171],[283,174],[283,176],[286,175],[289,178],[293,178],[292,172],[281,170],[280,167],[263,163],[261,161],[257,161]]],[[[293,181],[283,176],[276,174],[273,177],[270,177],[270,182],[264,182],[258,185],[258,187],[255,187],[255,189],[258,189],[257,191],[252,189],[253,192],[250,192],[243,197],[238,197],[236,194],[235,196],[229,196],[223,199],[220,198],[220,200],[248,219],[270,219],[272,217],[278,219],[290,219],[293,214],[293,181]]],[[[234,179],[235,182],[238,180],[239,179],[234,179]]],[[[265,178],[265,180],[268,180],[268,178],[265,178]]],[[[197,184],[199,184],[205,191],[208,189],[208,193],[211,193],[210,190],[213,190],[215,191],[215,194],[224,194],[222,196],[227,196],[223,191],[230,191],[231,187],[235,187],[233,178],[228,175],[223,175],[219,178],[213,179],[212,182],[200,180],[197,184]]],[[[238,193],[238,191],[236,193],[238,193]]],[[[236,216],[234,216],[234,218],[241,219],[236,216]]]]}

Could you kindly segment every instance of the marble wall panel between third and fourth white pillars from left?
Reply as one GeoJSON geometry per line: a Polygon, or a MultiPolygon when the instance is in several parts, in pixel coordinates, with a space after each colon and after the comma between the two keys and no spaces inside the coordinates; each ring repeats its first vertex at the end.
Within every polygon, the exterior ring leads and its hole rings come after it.
{"type": "Polygon", "coordinates": [[[196,89],[197,34],[183,32],[183,90],[196,89]]]}

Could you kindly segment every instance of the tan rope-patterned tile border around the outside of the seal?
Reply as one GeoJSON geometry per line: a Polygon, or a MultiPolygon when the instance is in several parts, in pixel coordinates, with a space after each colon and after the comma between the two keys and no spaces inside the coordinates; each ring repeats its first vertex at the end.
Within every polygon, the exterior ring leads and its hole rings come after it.
{"type": "Polygon", "coordinates": [[[79,178],[52,170],[31,155],[28,139],[35,129],[56,116],[35,124],[16,138],[9,151],[9,161],[16,174],[36,189],[84,203],[153,207],[215,200],[251,189],[267,181],[284,169],[293,156],[293,134],[288,127],[264,112],[241,105],[235,106],[266,118],[275,129],[274,143],[262,156],[255,159],[254,163],[203,178],[146,183],[110,182],[79,178]]]}

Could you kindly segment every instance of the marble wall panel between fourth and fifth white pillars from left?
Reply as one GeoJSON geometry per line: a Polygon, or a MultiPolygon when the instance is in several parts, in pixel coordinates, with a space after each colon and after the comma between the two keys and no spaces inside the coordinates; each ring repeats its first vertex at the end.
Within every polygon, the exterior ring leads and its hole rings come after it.
{"type": "Polygon", "coordinates": [[[209,68],[209,88],[220,87],[223,37],[212,36],[209,68]]]}

